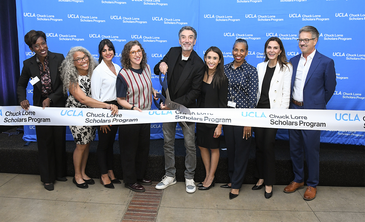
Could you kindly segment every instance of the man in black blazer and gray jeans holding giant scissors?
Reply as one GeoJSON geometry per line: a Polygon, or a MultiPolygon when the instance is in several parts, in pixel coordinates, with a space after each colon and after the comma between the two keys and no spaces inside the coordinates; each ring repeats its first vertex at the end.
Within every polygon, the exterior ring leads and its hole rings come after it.
{"type": "MultiPolygon", "coordinates": [[[[193,50],[196,43],[196,31],[191,26],[184,26],[179,31],[179,43],[181,47],[172,47],[166,56],[154,68],[154,73],[162,72],[166,74],[170,99],[187,108],[196,108],[196,99],[200,95],[200,88],[203,84],[205,64],[198,54],[193,50]]],[[[162,95],[166,93],[162,90],[162,95]]],[[[162,109],[169,108],[161,106],[162,109]]],[[[162,181],[156,185],[156,189],[162,190],[176,183],[174,142],[176,124],[162,123],[164,132],[164,152],[166,175],[162,181]]],[[[186,147],[185,157],[185,184],[186,191],[193,193],[196,190],[194,173],[196,167],[196,147],[195,147],[195,123],[187,123],[183,128],[184,143],[186,147]]]]}

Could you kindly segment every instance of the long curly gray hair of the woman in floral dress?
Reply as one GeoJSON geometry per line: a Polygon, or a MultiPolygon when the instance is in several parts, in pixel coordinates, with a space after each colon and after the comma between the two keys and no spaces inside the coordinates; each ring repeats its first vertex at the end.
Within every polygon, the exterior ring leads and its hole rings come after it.
{"type": "Polygon", "coordinates": [[[96,68],[97,63],[91,53],[81,46],[72,47],[70,51],[67,53],[65,60],[61,64],[61,79],[64,84],[63,91],[65,95],[69,90],[70,84],[78,84],[78,72],[73,63],[73,54],[77,51],[81,51],[85,53],[89,57],[89,77],[91,77],[93,70],[96,68]]]}

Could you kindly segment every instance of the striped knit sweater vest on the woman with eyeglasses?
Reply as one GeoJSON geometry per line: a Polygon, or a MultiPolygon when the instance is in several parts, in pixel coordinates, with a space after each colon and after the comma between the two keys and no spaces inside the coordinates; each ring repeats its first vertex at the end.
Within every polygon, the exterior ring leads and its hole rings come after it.
{"type": "Polygon", "coordinates": [[[151,68],[147,64],[142,74],[133,72],[130,69],[122,69],[119,75],[127,83],[128,91],[126,100],[132,106],[141,110],[150,110],[152,104],[152,82],[151,68]]]}

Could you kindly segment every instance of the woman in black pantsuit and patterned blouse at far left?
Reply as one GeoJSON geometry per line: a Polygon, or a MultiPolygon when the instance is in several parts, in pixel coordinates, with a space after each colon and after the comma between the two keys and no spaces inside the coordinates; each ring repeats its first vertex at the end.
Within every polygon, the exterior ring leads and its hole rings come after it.
{"type": "MultiPolygon", "coordinates": [[[[23,62],[18,81],[18,99],[24,110],[29,110],[27,100],[28,81],[33,85],[33,105],[39,107],[65,107],[67,97],[63,94],[59,67],[64,55],[48,51],[46,35],[42,31],[29,31],[24,41],[34,56],[23,62]]],[[[36,126],[39,172],[47,190],[53,190],[53,182],[66,181],[66,126],[36,126]]]]}

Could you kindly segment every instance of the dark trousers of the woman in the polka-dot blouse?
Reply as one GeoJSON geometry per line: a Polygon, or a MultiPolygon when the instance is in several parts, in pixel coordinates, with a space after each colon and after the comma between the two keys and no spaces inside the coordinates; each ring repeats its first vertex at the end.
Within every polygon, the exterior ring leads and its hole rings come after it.
{"type": "Polygon", "coordinates": [[[243,139],[243,126],[224,125],[223,131],[226,139],[228,175],[232,184],[231,187],[232,189],[239,189],[245,179],[252,137],[247,140],[243,139]]]}

